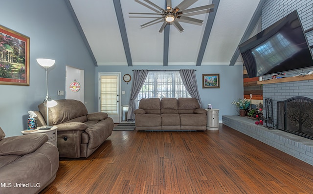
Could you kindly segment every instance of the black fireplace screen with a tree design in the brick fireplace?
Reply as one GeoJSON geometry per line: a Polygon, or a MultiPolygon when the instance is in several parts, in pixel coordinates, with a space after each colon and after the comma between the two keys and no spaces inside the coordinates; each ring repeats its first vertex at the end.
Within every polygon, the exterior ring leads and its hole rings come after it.
{"type": "Polygon", "coordinates": [[[293,97],[277,103],[277,127],[313,139],[313,100],[293,97]]]}

